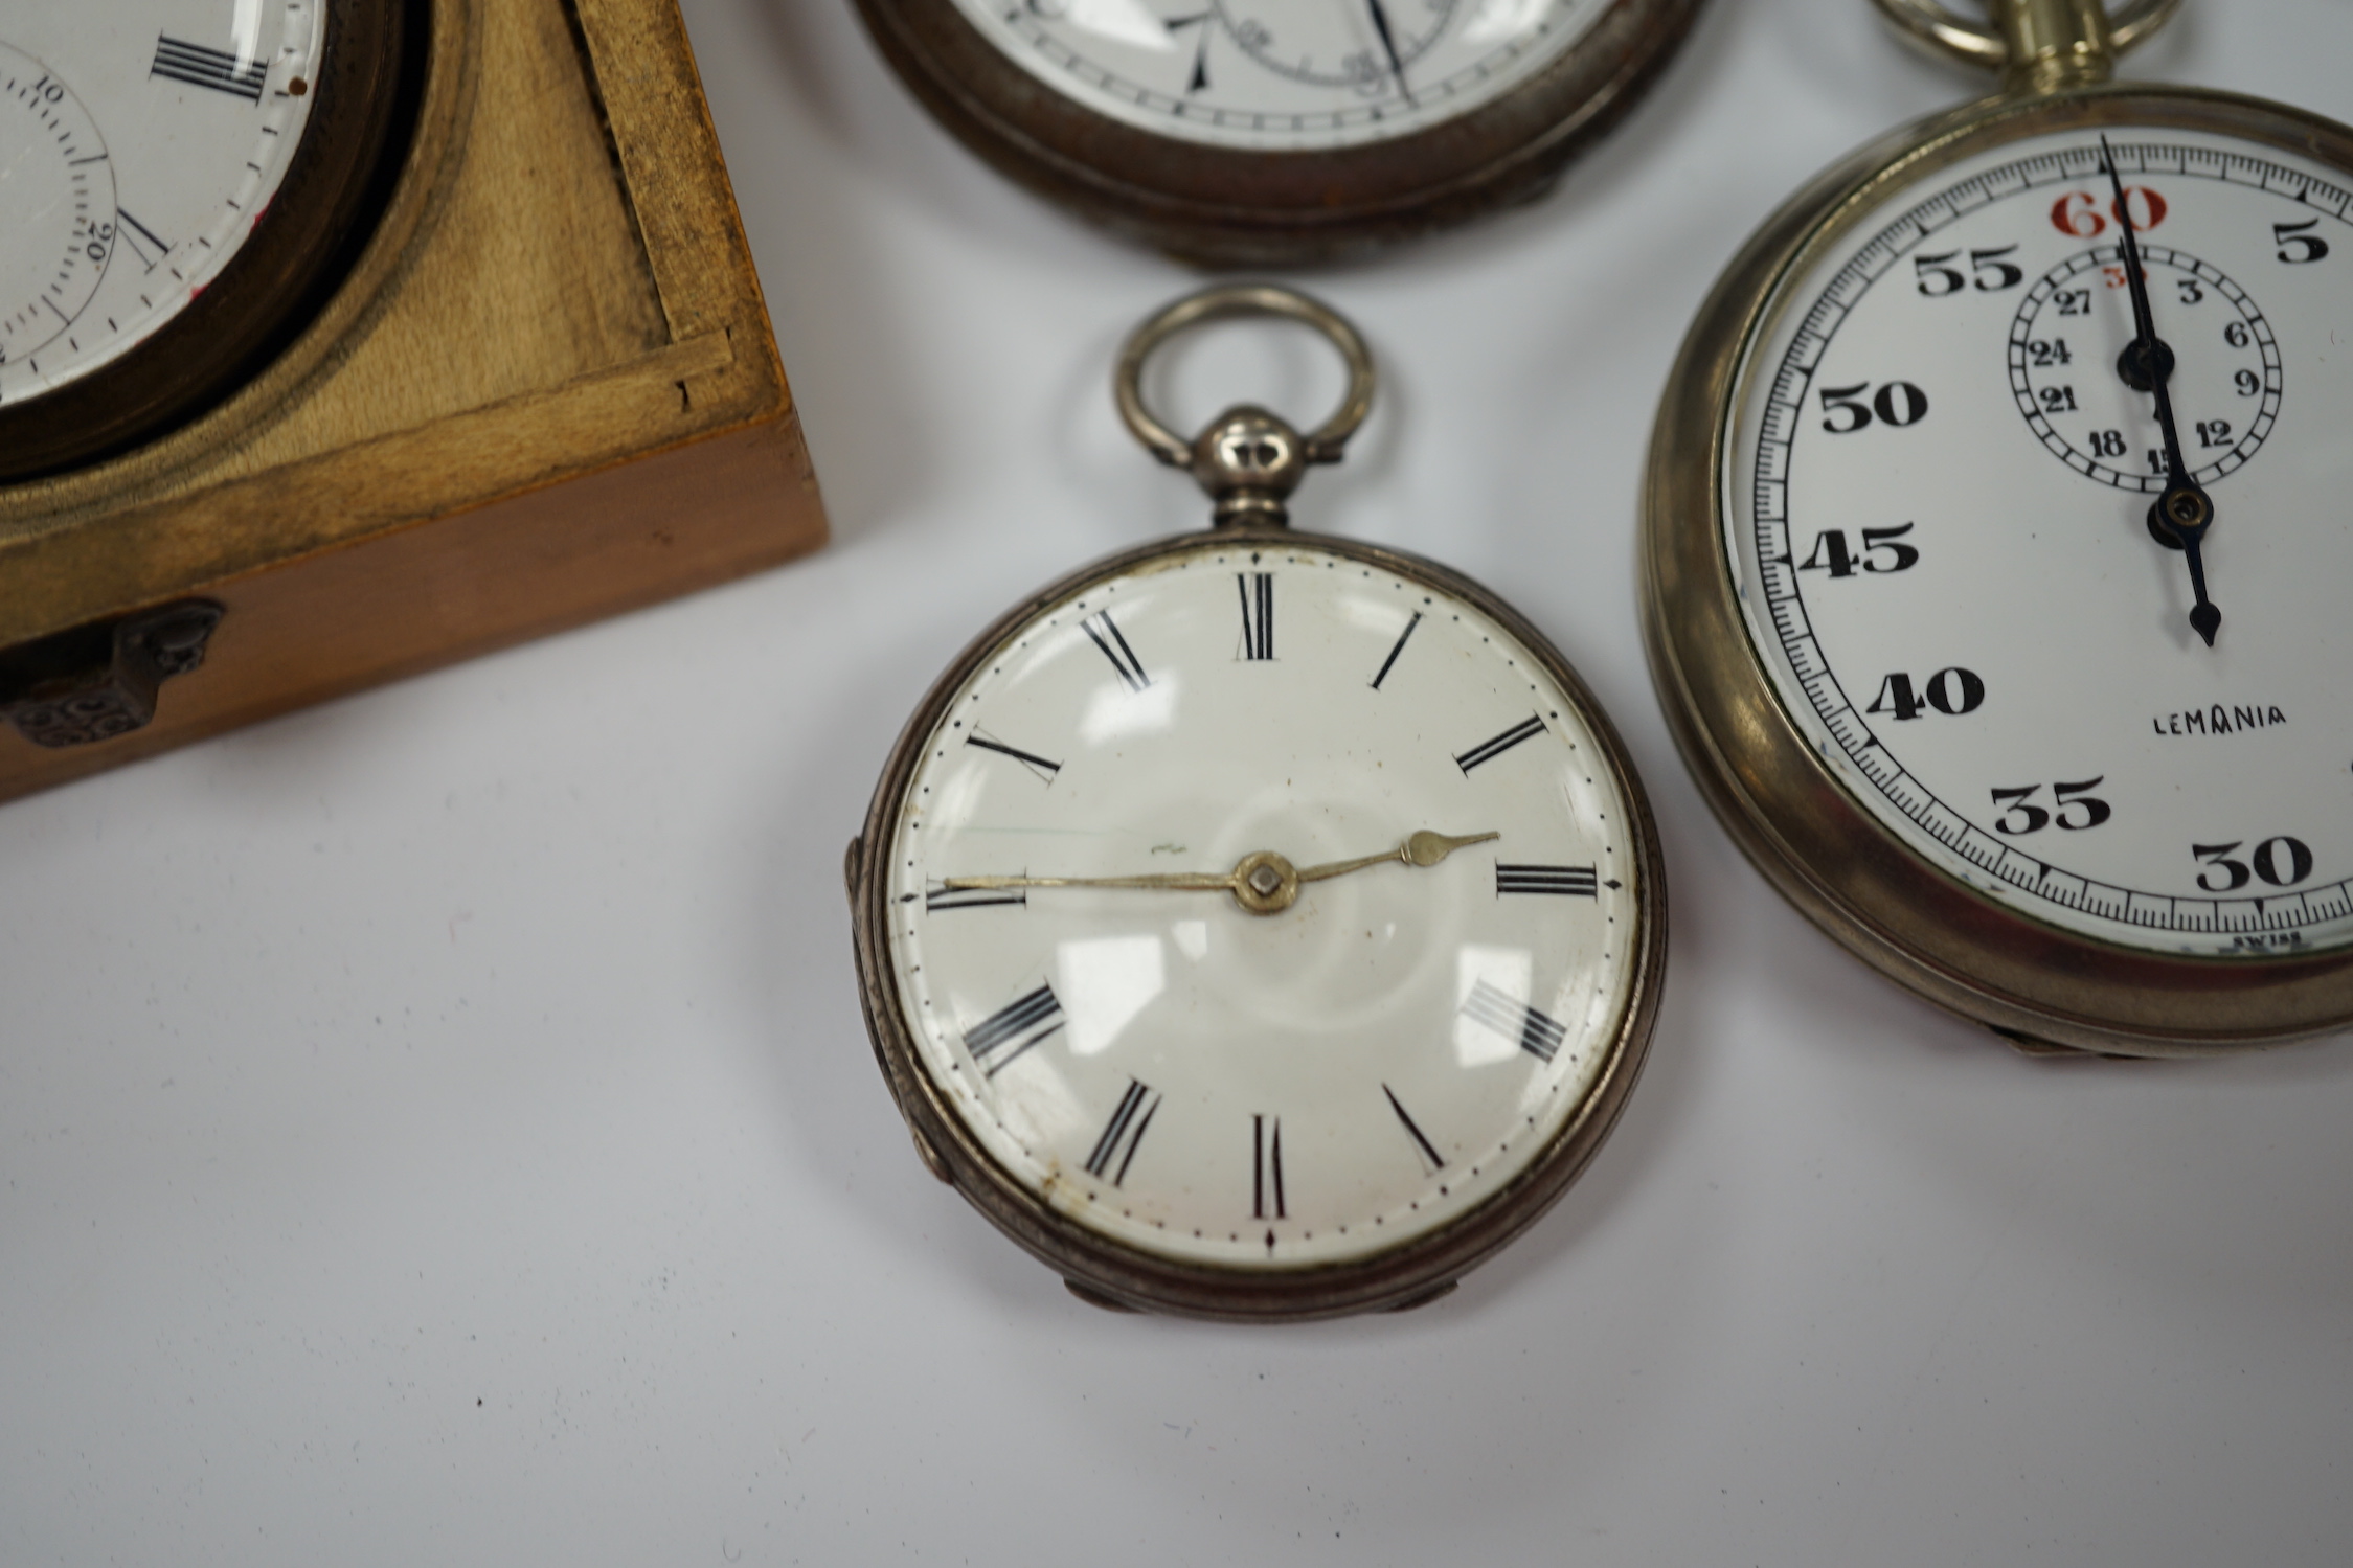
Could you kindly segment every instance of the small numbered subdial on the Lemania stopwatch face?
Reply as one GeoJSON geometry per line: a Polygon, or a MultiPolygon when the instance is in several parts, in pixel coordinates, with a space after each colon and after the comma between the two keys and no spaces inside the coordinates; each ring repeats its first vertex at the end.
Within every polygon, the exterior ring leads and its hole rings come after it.
{"type": "MultiPolygon", "coordinates": [[[[2278,423],[2280,346],[2247,289],[2219,268],[2165,244],[2144,242],[2139,252],[2165,313],[2158,360],[2172,367],[2167,390],[2188,475],[2214,484],[2242,468],[2278,423]]],[[[2148,374],[2132,357],[2125,284],[2118,244],[2047,270],[2009,324],[2009,390],[2061,463],[2155,496],[2165,489],[2165,449],[2148,423],[2148,374]]]]}

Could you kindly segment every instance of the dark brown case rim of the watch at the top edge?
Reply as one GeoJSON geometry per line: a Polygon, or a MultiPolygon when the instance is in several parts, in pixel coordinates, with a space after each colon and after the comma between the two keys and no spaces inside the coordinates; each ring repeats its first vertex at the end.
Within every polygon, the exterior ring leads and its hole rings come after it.
{"type": "Polygon", "coordinates": [[[1499,101],[1367,146],[1254,153],[1158,136],[1005,59],[953,0],[859,0],[882,56],[1007,179],[1200,266],[1362,254],[1527,202],[1652,87],[1701,0],[1614,0],[1499,101]]]}

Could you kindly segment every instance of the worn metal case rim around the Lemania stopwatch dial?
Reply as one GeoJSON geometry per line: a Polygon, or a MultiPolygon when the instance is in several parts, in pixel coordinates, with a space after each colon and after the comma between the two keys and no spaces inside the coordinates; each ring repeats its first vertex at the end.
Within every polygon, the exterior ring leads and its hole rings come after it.
{"type": "Polygon", "coordinates": [[[2217,1056],[2353,1023],[2353,952],[2155,954],[2019,914],[1932,867],[1814,757],[1760,663],[1725,557],[1741,360],[1784,282],[1908,186],[2026,136],[2219,132],[2353,174],[2353,129],[2240,94],[2099,85],[1991,99],[1859,148],[1734,256],[1678,353],[1642,480],[1642,642],[1668,729],[1765,879],[1859,959],[2026,1051],[2217,1056]]]}

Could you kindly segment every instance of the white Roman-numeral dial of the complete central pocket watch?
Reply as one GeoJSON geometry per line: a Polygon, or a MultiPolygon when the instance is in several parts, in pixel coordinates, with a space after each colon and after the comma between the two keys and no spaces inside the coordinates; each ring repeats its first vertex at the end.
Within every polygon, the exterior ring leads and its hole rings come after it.
{"type": "Polygon", "coordinates": [[[1442,590],[1205,538],[1052,604],[929,736],[885,870],[915,1053],[993,1161],[1104,1237],[1292,1269],[1426,1237],[1586,1105],[1640,849],[1579,703],[1442,590]],[[1226,891],[962,877],[1438,863],[1226,891]]]}

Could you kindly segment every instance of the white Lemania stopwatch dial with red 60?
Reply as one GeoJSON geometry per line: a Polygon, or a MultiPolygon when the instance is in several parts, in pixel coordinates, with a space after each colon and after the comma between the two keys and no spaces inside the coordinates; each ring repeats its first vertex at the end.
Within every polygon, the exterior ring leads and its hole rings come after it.
{"type": "Polygon", "coordinates": [[[2353,195],[2268,143],[2120,125],[2184,463],[2092,132],[1913,183],[1788,277],[1739,371],[1725,550],[1838,780],[1951,877],[2151,952],[2353,943],[2353,195]]]}

